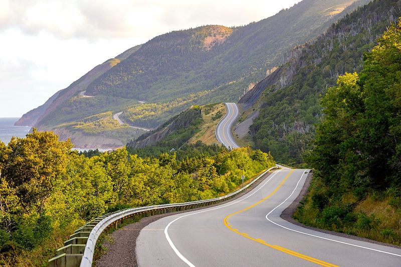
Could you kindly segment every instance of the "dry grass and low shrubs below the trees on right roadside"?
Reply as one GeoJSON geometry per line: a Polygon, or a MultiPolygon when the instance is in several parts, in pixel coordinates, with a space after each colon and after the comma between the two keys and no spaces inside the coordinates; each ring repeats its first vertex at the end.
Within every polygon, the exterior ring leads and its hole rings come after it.
{"type": "Polygon", "coordinates": [[[294,219],[312,227],[401,245],[401,209],[389,204],[391,196],[375,192],[357,201],[350,193],[341,197],[328,194],[329,188],[314,177],[294,219]]]}

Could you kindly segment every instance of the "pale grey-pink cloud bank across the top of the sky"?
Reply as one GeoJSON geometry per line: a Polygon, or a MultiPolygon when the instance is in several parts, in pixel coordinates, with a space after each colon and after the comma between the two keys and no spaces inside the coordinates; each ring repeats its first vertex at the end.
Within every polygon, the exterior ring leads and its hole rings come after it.
{"type": "Polygon", "coordinates": [[[204,24],[235,26],[274,15],[299,0],[0,0],[0,30],[59,38],[147,37],[204,24]]]}

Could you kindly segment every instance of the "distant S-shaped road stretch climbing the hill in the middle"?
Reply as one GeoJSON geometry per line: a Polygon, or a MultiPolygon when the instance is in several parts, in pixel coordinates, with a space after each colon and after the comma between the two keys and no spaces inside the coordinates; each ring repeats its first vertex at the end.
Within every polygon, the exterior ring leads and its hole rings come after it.
{"type": "Polygon", "coordinates": [[[217,140],[226,146],[227,148],[235,149],[239,148],[238,144],[235,142],[233,135],[231,133],[231,126],[237,119],[240,111],[236,103],[224,103],[226,105],[227,113],[224,118],[217,124],[216,127],[216,138],[217,140]]]}

